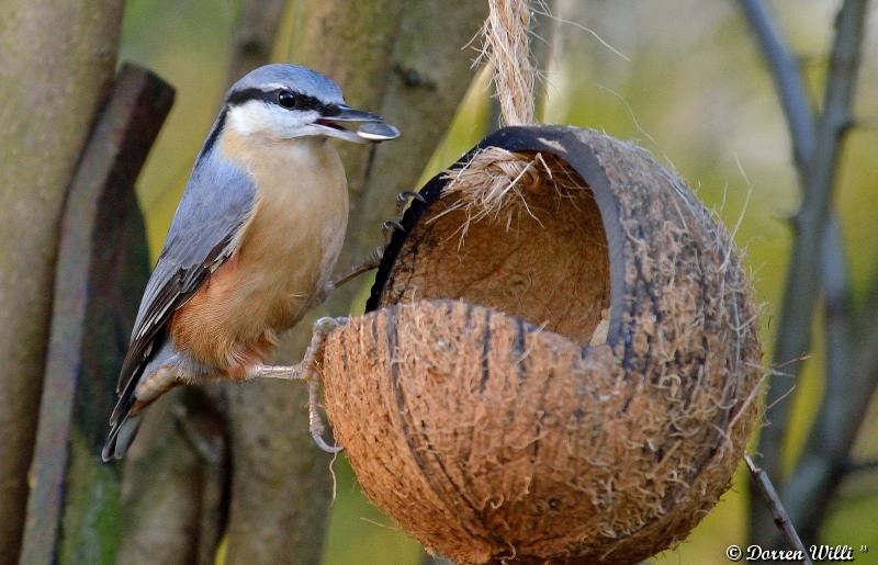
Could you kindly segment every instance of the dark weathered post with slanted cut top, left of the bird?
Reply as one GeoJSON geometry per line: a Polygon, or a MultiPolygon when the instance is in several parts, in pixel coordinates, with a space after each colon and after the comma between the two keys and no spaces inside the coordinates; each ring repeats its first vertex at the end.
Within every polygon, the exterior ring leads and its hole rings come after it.
{"type": "Polygon", "coordinates": [[[21,563],[115,560],[120,473],[100,450],[149,274],[134,183],[172,103],[124,66],[67,192],[21,563]]]}

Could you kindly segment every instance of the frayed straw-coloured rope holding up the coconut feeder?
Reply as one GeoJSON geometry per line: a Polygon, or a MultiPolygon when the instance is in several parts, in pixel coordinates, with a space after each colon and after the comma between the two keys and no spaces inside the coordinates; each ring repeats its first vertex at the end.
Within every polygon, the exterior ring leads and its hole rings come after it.
{"type": "Polygon", "coordinates": [[[527,0],[488,0],[488,5],[482,52],[494,67],[500,121],[505,125],[532,124],[537,72],[530,59],[530,7],[527,0]]]}

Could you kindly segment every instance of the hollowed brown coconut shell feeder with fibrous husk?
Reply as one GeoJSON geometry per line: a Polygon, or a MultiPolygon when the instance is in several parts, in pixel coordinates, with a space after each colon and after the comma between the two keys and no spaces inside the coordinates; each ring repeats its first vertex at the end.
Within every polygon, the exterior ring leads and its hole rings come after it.
{"type": "Polygon", "coordinates": [[[507,127],[432,179],[322,371],[376,506],[459,563],[637,563],[730,486],[762,349],[725,229],[632,144],[507,127]]]}

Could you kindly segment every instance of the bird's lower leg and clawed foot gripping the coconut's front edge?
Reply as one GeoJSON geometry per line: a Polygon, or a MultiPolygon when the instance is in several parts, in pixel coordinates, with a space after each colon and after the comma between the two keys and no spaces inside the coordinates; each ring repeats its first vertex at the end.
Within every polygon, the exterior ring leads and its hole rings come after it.
{"type": "Polygon", "coordinates": [[[316,370],[317,355],[323,350],[326,336],[329,335],[338,326],[348,323],[348,318],[320,318],[314,323],[314,332],[311,337],[311,344],[305,351],[305,355],[299,364],[292,366],[272,366],[272,365],[254,365],[247,375],[247,378],[290,378],[290,380],[304,380],[308,383],[308,429],[311,437],[318,448],[327,453],[338,453],[342,449],[340,445],[329,445],[323,439],[326,431],[326,426],[320,418],[320,413],[317,409],[320,392],[320,375],[316,370]]]}

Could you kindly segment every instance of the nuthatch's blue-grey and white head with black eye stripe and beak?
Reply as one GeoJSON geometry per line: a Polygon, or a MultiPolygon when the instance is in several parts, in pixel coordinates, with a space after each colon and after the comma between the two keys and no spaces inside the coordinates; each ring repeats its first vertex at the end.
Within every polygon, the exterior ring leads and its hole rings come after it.
{"type": "Polygon", "coordinates": [[[271,139],[336,137],[353,143],[394,139],[378,114],[350,108],[331,79],[297,65],[266,65],[238,80],[225,101],[225,127],[271,139]]]}

